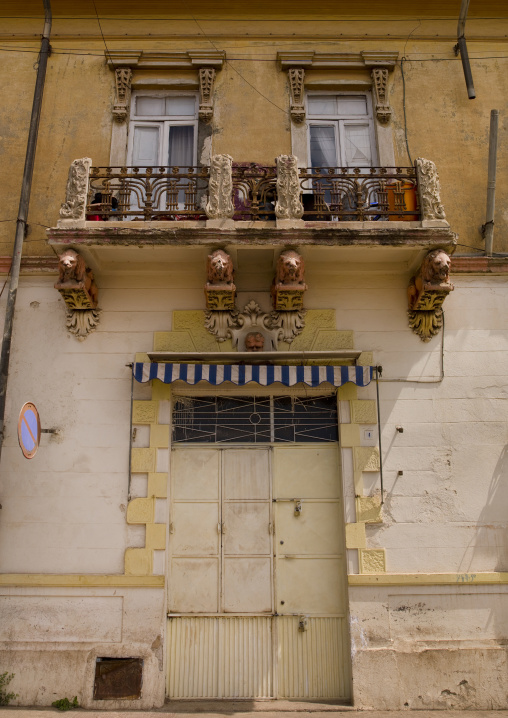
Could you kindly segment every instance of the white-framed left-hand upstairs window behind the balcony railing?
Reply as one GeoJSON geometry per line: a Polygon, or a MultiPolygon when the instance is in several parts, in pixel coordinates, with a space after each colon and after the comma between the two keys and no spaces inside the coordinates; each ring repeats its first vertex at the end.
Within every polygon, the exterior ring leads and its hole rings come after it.
{"type": "Polygon", "coordinates": [[[129,164],[192,167],[197,160],[197,96],[134,93],[129,164]]]}

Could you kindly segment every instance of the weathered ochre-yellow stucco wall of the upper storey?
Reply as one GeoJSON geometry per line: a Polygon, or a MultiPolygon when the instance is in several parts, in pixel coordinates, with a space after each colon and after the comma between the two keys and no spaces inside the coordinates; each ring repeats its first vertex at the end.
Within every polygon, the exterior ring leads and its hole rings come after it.
{"type": "MultiPolygon", "coordinates": [[[[19,15],[14,3],[5,5],[7,14],[19,15]]],[[[60,3],[53,9],[53,54],[41,115],[26,254],[51,253],[43,241],[44,226],[56,223],[71,161],[91,156],[95,164],[109,162],[113,73],[105,64],[104,42],[89,5],[75,3],[71,10],[67,5],[60,3]],[[74,19],[72,13],[82,19],[74,19]]],[[[42,4],[32,2],[23,12],[40,16],[42,4]]],[[[291,151],[287,74],[277,64],[278,51],[383,50],[406,57],[411,156],[436,163],[447,218],[459,233],[461,245],[482,246],[479,227],[485,221],[489,113],[499,109],[494,249],[508,249],[508,143],[504,141],[502,99],[508,91],[507,33],[503,22],[495,19],[503,14],[499,0],[471,8],[467,38],[477,94],[473,101],[467,98],[461,62],[453,53],[457,3],[425,3],[413,11],[407,3],[392,0],[383,4],[381,19],[379,4],[367,1],[355,7],[354,17],[350,5],[343,2],[312,8],[312,19],[308,3],[301,2],[277,8],[256,4],[255,10],[229,3],[198,3],[193,9],[197,20],[176,3],[145,4],[140,17],[134,15],[139,13],[138,5],[122,4],[121,12],[122,17],[115,3],[100,7],[101,28],[111,52],[189,48],[226,52],[228,61],[216,81],[212,150],[226,152],[236,161],[273,163],[276,155],[291,151]]],[[[5,20],[1,33],[6,48],[1,50],[0,74],[2,220],[15,219],[17,213],[41,29],[41,20],[13,17],[5,20]]],[[[311,72],[317,77],[316,71],[311,72]]],[[[328,79],[340,79],[342,71],[325,74],[328,79]]],[[[367,70],[363,75],[368,79],[367,70]]],[[[396,162],[407,165],[400,62],[390,75],[389,96],[396,162]]],[[[13,234],[12,221],[0,224],[0,254],[10,254],[13,234]]],[[[459,246],[459,251],[468,249],[459,246]]]]}

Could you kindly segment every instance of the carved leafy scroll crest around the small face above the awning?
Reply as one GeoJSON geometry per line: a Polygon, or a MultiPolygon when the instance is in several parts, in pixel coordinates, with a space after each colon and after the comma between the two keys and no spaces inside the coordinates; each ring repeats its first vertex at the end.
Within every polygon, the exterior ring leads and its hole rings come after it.
{"type": "Polygon", "coordinates": [[[305,310],[290,312],[263,312],[254,300],[246,304],[243,312],[205,312],[205,328],[217,341],[233,341],[233,347],[245,351],[245,339],[253,332],[261,334],[266,351],[275,351],[277,342],[289,344],[305,327],[305,310]]]}

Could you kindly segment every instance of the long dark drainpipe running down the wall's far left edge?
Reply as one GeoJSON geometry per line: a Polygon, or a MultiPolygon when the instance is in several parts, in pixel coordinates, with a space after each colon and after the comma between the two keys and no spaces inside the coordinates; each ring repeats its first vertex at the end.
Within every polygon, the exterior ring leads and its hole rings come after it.
{"type": "Polygon", "coordinates": [[[30,129],[28,131],[25,169],[23,170],[18,217],[16,220],[16,235],[14,239],[14,249],[12,252],[11,281],[9,284],[9,293],[7,295],[2,353],[0,355],[0,456],[2,453],[5,431],[5,397],[7,392],[7,379],[9,375],[9,358],[11,353],[14,307],[16,305],[16,295],[18,291],[23,240],[25,238],[27,227],[28,207],[30,204],[30,190],[32,188],[32,176],[34,170],[35,150],[37,147],[37,134],[39,132],[39,119],[41,116],[44,80],[46,77],[48,57],[51,52],[49,44],[52,19],[50,0],[43,0],[43,4],[44,29],[42,31],[39,66],[37,68],[37,78],[35,80],[34,99],[32,104],[32,116],[30,118],[30,129]]]}

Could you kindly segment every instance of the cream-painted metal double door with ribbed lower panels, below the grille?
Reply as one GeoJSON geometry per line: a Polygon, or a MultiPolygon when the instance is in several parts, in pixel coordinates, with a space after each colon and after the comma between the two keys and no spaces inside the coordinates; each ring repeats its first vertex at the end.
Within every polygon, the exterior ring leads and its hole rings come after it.
{"type": "Polygon", "coordinates": [[[336,443],[176,445],[170,698],[350,696],[336,443]]]}

